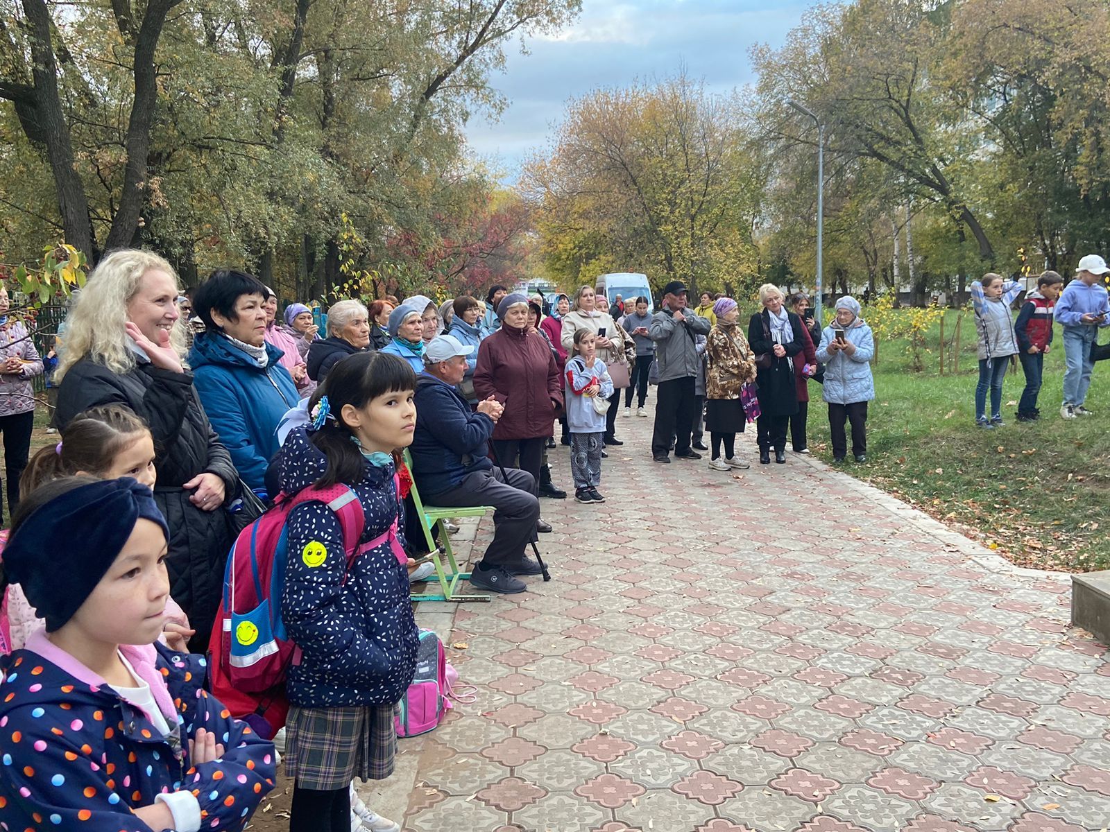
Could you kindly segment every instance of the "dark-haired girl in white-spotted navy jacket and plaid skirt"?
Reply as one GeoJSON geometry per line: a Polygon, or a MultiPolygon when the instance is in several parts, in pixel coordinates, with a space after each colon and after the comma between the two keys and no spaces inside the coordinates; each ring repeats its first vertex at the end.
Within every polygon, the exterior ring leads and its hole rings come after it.
{"type": "Polygon", "coordinates": [[[350,355],[310,399],[312,423],[292,430],[279,455],[284,494],[343,484],[365,518],[350,562],[339,517],[323,503],[297,506],[285,525],[282,622],[301,649],[286,681],[290,832],[350,832],[351,781],[393,772],[393,707],[412,682],[418,631],[392,453],[412,444],[415,387],[396,356],[350,355]]]}

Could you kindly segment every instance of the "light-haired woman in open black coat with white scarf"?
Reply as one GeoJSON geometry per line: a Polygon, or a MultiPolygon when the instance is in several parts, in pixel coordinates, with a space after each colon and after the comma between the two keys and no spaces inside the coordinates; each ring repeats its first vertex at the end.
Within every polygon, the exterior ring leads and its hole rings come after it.
{"type": "Polygon", "coordinates": [[[798,390],[794,376],[794,356],[804,346],[801,318],[783,308],[783,293],[778,286],[766,283],[759,287],[763,312],[751,316],[748,324],[748,344],[756,355],[756,385],[759,409],[756,420],[759,434],[759,461],[770,463],[770,448],[775,461],[786,461],[786,427],[790,416],[798,412],[798,390]],[[770,366],[759,367],[759,356],[769,355],[770,366]]]}

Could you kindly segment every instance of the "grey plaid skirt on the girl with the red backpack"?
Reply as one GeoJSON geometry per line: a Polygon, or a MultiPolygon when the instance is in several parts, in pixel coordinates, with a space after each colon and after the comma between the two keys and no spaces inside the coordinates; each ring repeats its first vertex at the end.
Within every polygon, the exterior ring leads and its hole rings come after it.
{"type": "Polygon", "coordinates": [[[302,789],[335,791],[393,773],[393,706],[289,709],[285,773],[302,789]]]}

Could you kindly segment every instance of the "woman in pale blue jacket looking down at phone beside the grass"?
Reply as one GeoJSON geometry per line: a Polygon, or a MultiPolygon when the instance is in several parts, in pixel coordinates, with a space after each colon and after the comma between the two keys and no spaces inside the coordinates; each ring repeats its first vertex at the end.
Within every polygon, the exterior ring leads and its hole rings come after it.
{"type": "Polygon", "coordinates": [[[871,356],[875,337],[859,317],[859,301],[845,295],[836,302],[836,319],[821,332],[817,361],[825,363],[821,395],[829,405],[833,459],[842,463],[848,454],[845,419],[851,423],[851,453],[857,463],[867,461],[867,403],[875,398],[871,356]]]}

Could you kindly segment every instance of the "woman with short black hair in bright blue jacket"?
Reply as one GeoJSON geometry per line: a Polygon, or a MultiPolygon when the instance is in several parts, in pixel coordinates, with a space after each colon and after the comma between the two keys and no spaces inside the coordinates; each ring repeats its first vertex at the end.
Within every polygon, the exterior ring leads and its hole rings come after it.
{"type": "Polygon", "coordinates": [[[281,417],[301,400],[282,352],[265,342],[266,288],[230,270],[213,272],[193,297],[205,332],[193,341],[189,363],[201,404],[231,451],[239,476],[265,493],[265,473],[278,453],[281,417]]]}

